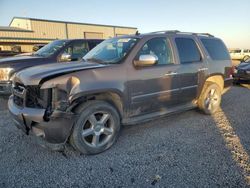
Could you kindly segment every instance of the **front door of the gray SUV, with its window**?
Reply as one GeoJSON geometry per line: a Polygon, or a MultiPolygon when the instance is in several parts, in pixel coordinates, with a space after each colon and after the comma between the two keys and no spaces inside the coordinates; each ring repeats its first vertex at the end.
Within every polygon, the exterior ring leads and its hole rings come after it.
{"type": "Polygon", "coordinates": [[[155,55],[158,62],[150,67],[133,67],[128,71],[131,116],[164,111],[178,102],[178,66],[174,63],[170,42],[165,37],[148,40],[138,52],[155,55]]]}

